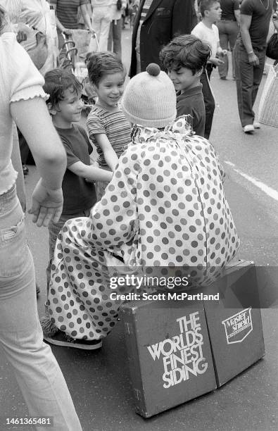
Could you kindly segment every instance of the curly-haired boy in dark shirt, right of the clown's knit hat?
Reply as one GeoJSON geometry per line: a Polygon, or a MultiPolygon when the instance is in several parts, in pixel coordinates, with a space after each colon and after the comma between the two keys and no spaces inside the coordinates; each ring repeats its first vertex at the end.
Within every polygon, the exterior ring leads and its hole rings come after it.
{"type": "Polygon", "coordinates": [[[210,56],[210,46],[193,35],[175,37],[160,51],[160,59],[177,91],[177,116],[187,119],[196,135],[204,136],[206,111],[201,73],[210,56]]]}

